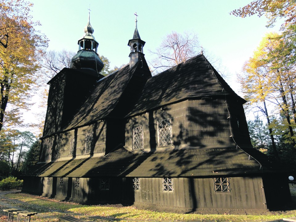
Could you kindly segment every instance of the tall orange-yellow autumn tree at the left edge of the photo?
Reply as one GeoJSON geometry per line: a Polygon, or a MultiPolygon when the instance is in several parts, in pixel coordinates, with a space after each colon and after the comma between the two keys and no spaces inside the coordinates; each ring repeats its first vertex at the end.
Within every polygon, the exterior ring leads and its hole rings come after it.
{"type": "Polygon", "coordinates": [[[6,126],[21,123],[14,121],[20,119],[20,109],[28,108],[29,92],[35,87],[47,47],[45,36],[35,30],[39,23],[31,21],[31,6],[23,0],[0,2],[0,30],[9,36],[7,47],[0,47],[0,132],[4,122],[6,126]]]}

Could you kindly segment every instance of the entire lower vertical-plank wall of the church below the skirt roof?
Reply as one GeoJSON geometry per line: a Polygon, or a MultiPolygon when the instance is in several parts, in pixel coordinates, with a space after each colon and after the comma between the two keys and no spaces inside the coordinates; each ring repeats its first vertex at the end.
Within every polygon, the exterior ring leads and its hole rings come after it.
{"type": "MultiPolygon", "coordinates": [[[[132,178],[109,178],[109,189],[100,189],[101,178],[80,178],[80,186],[75,187],[75,178],[42,178],[41,194],[70,199],[78,203],[134,203],[136,206],[161,206],[169,208],[205,209],[247,209],[262,210],[264,193],[262,179],[253,177],[229,178],[230,192],[215,192],[213,178],[173,178],[173,191],[163,191],[163,178],[140,178],[140,189],[133,190],[132,178]],[[122,187],[122,189],[118,189],[122,187]]],[[[36,182],[36,181],[35,181],[36,182]]],[[[26,182],[24,190],[29,186],[26,182]]],[[[38,192],[36,192],[37,194],[38,192]]]]}

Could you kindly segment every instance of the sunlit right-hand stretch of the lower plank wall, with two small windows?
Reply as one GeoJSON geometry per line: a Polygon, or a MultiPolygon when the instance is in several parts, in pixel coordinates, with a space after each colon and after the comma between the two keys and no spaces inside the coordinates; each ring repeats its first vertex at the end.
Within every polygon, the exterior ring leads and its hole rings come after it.
{"type": "Polygon", "coordinates": [[[141,178],[135,204],[191,209],[265,209],[261,177],[231,177],[230,192],[215,192],[213,178],[173,178],[174,191],[162,191],[162,178],[141,178]]]}

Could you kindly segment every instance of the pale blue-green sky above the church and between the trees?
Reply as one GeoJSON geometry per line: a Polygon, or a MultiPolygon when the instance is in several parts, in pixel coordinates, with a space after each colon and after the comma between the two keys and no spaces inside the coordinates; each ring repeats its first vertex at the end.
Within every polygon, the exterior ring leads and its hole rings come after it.
{"type": "Polygon", "coordinates": [[[265,17],[235,17],[229,13],[247,5],[251,0],[183,0],[183,1],[116,1],[116,0],[31,0],[32,20],[49,39],[48,50],[78,51],[77,42],[84,36],[90,22],[94,28],[98,54],[110,61],[110,68],[129,63],[130,47],[138,14],[138,31],[146,42],[143,52],[149,62],[162,39],[172,31],[197,34],[200,45],[208,54],[220,59],[213,66],[227,76],[226,81],[236,93],[240,85],[236,73],[241,73],[245,61],[253,55],[262,37],[278,31],[280,24],[266,28],[265,17]]]}

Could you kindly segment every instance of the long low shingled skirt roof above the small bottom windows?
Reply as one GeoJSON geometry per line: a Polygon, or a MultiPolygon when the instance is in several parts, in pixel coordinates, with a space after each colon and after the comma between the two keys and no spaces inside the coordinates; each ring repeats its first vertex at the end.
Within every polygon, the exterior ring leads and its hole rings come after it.
{"type": "MultiPolygon", "coordinates": [[[[252,149],[253,155],[261,155],[252,149]]],[[[208,177],[281,171],[283,166],[260,162],[241,149],[186,148],[134,154],[120,148],[103,157],[38,163],[25,176],[40,177],[208,177]]]]}

